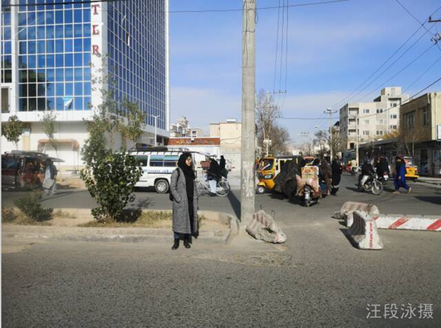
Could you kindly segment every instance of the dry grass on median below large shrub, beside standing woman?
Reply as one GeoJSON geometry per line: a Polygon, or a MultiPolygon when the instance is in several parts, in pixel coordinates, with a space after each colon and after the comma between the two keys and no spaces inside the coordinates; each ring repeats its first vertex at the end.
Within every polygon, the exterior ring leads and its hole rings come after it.
{"type": "MultiPolygon", "coordinates": [[[[199,226],[202,225],[204,219],[203,215],[199,216],[199,226]]],[[[123,219],[107,222],[92,221],[79,226],[88,228],[172,228],[172,212],[143,211],[136,219],[130,217],[127,221],[123,219]]]]}

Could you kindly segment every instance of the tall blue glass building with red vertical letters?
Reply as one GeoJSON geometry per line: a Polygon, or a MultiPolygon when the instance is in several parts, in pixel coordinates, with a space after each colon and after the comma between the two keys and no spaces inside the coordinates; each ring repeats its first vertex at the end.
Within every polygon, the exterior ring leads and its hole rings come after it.
{"type": "MultiPolygon", "coordinates": [[[[169,135],[167,0],[1,4],[1,116],[29,123],[21,149],[41,148],[41,114],[54,111],[56,139],[75,139],[80,146],[72,165],[81,164],[88,138],[83,120],[100,102],[94,89],[102,86],[94,85],[93,76],[103,56],[114,74],[116,100],[137,102],[147,114],[139,141],[154,143],[155,122],[160,143],[169,135]]],[[[2,139],[8,150],[5,144],[2,139]]]]}

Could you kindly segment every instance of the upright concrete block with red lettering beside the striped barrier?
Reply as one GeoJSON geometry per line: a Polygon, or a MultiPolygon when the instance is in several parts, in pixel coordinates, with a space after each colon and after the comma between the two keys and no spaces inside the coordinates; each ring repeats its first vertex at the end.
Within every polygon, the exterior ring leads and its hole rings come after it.
{"type": "Polygon", "coordinates": [[[347,230],[347,235],[360,250],[382,250],[383,248],[376,221],[367,212],[353,212],[353,223],[347,230]]]}

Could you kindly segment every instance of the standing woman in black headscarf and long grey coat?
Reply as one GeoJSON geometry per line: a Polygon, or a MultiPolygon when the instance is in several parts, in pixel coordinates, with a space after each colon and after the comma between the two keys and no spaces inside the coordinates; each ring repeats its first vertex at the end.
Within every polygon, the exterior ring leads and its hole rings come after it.
{"type": "Polygon", "coordinates": [[[192,153],[182,153],[178,160],[178,168],[172,173],[170,184],[173,199],[174,244],[172,250],[179,247],[181,239],[184,241],[185,248],[190,248],[192,237],[197,238],[199,235],[195,178],[192,153]]]}

